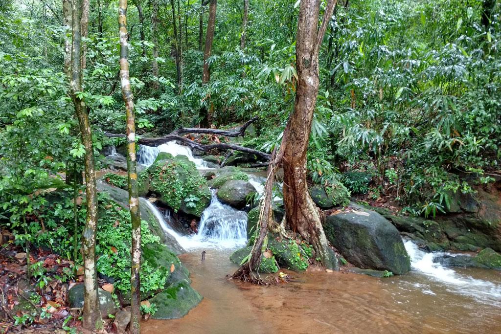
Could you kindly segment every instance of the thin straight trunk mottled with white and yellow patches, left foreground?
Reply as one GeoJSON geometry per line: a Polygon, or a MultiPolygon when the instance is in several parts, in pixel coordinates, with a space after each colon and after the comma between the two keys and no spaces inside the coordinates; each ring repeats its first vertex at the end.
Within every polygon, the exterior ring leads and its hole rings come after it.
{"type": "Polygon", "coordinates": [[[139,306],[140,280],[139,270],[141,267],[141,216],[139,212],[139,196],[137,192],[137,172],[136,172],[136,127],[134,121],[134,98],[130,88],[129,80],[129,60],[127,42],[127,0],[119,1],[118,26],[120,34],[120,85],[122,87],[122,98],[125,103],[127,116],[127,175],[129,190],[129,209],[132,223],[132,263],[131,263],[131,332],[139,334],[139,320],[141,313],[139,306]]]}

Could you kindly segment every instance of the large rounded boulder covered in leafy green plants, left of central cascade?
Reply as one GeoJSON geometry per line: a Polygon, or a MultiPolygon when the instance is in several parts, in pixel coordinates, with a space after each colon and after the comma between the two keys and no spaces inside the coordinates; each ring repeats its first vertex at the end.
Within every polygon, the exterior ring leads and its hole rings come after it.
{"type": "Polygon", "coordinates": [[[210,190],[195,164],[183,157],[160,161],[157,157],[150,167],[150,190],[174,211],[200,217],[210,203],[210,190]]]}

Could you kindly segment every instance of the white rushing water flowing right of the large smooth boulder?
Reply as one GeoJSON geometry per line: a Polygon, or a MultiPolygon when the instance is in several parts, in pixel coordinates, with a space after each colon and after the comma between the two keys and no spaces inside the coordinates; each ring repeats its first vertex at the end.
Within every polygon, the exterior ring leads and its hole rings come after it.
{"type": "MultiPolygon", "coordinates": [[[[433,262],[434,258],[442,256],[444,253],[424,252],[412,241],[404,241],[404,245],[410,256],[412,269],[430,279],[443,283],[446,291],[466,295],[479,302],[501,305],[501,285],[460,274],[454,269],[433,262]]],[[[440,293],[440,291],[428,292],[440,293]]]]}

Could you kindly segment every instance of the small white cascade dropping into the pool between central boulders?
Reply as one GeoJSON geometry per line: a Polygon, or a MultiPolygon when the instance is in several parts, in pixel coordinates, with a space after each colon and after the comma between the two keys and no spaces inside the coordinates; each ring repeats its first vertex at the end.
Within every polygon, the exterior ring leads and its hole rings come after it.
{"type": "Polygon", "coordinates": [[[202,213],[197,236],[217,242],[245,244],[247,214],[219,202],[213,189],[210,205],[202,213]]]}

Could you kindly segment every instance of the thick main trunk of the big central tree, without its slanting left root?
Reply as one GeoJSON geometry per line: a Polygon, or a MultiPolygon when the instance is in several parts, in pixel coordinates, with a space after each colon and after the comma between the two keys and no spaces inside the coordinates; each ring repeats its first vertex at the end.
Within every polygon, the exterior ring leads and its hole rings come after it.
{"type": "MultiPolygon", "coordinates": [[[[329,2],[330,4],[331,2],[329,2]]],[[[328,5],[329,8],[329,5],[328,5]]],[[[329,247],[306,182],[306,158],[319,88],[318,49],[325,28],[318,30],[320,0],[302,0],[296,37],[298,85],[294,111],[284,131],[279,156],[284,169],[284,204],[287,222],[315,248],[328,268],[337,268],[337,258],[329,247]]],[[[327,10],[326,10],[327,11],[327,10]]],[[[332,14],[332,11],[330,12],[332,14]]],[[[327,16],[330,19],[330,15],[327,16]]]]}

